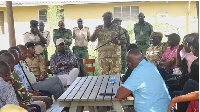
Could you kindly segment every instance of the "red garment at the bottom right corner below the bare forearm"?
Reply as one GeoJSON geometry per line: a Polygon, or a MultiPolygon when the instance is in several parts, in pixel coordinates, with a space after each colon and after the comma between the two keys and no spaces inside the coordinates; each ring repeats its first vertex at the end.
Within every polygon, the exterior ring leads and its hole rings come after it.
{"type": "Polygon", "coordinates": [[[199,112],[199,100],[191,101],[186,112],[199,112]]]}

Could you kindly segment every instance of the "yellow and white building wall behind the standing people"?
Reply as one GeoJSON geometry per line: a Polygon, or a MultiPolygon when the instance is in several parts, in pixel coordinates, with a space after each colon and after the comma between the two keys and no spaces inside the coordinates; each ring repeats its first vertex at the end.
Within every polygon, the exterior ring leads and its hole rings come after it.
{"type": "MultiPolygon", "coordinates": [[[[171,24],[182,25],[179,29],[179,34],[185,35],[189,32],[188,14],[191,17],[197,16],[196,2],[191,2],[191,8],[188,10],[187,1],[184,2],[130,2],[130,3],[108,3],[108,4],[80,4],[80,5],[64,5],[65,10],[65,24],[66,28],[73,29],[77,26],[76,20],[83,18],[84,25],[90,28],[93,33],[97,25],[103,24],[102,14],[106,11],[114,11],[114,6],[139,6],[139,11],[144,12],[146,21],[151,24],[155,24],[155,17],[158,13],[168,13],[168,21],[171,24]]],[[[47,6],[19,6],[13,7],[14,21],[15,21],[15,33],[17,44],[23,43],[23,34],[29,31],[30,20],[39,19],[39,9],[48,8],[47,6]]],[[[0,7],[0,11],[4,11],[4,29],[5,35],[0,37],[8,37],[6,8],[0,7]]],[[[128,23],[122,22],[122,26],[126,27],[128,23]]],[[[46,24],[48,27],[48,23],[46,24]]],[[[157,29],[156,29],[157,30],[157,29]]]]}

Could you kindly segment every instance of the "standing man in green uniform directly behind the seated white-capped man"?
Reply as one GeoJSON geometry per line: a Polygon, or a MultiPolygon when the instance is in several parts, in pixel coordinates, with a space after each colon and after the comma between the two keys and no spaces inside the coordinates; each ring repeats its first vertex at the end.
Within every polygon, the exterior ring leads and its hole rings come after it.
{"type": "Polygon", "coordinates": [[[70,29],[65,28],[65,23],[63,20],[58,22],[58,29],[53,30],[53,42],[56,45],[56,40],[63,38],[65,40],[65,49],[70,50],[70,45],[72,44],[72,32],[70,29]]]}

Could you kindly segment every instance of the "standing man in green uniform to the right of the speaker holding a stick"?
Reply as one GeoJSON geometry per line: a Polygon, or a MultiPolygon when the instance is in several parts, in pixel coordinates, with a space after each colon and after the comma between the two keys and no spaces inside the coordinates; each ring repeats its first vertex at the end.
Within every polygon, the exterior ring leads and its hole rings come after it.
{"type": "Polygon", "coordinates": [[[150,46],[150,35],[153,32],[153,26],[144,21],[144,13],[138,15],[139,22],[134,24],[135,40],[142,54],[146,54],[146,50],[150,46]]]}

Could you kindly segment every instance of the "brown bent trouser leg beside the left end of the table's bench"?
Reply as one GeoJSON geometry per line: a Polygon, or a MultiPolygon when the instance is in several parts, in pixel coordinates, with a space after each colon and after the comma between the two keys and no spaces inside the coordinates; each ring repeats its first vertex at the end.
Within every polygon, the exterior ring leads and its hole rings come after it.
{"type": "Polygon", "coordinates": [[[53,102],[48,96],[32,96],[33,101],[43,101],[46,104],[46,109],[50,108],[53,102]]]}

